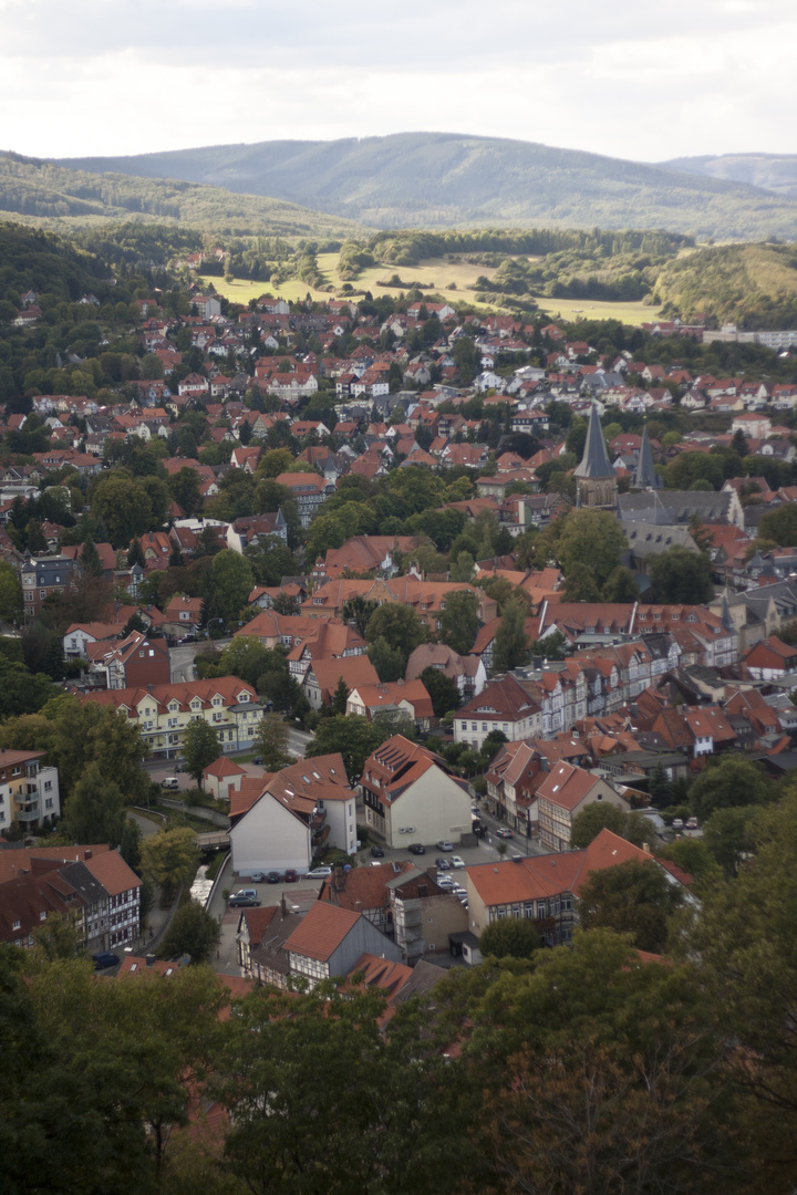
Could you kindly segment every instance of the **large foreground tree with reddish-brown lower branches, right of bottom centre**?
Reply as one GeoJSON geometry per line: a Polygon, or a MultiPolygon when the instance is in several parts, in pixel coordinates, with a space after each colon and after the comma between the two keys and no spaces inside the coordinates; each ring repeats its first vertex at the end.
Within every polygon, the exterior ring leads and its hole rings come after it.
{"type": "Polygon", "coordinates": [[[642,967],[608,932],[580,933],[572,949],[482,979],[486,991],[466,1005],[479,1025],[465,1044],[479,1092],[472,1132],[492,1169],[479,1189],[703,1195],[727,1185],[716,1179],[732,1165],[732,1104],[697,970],[642,967]]]}

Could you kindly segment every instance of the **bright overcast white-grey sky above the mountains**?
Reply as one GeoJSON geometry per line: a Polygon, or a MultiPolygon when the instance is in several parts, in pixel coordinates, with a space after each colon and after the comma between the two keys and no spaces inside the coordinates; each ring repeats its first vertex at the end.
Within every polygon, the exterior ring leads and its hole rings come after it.
{"type": "Polygon", "coordinates": [[[0,148],[445,130],[797,152],[793,0],[0,0],[0,148]]]}

